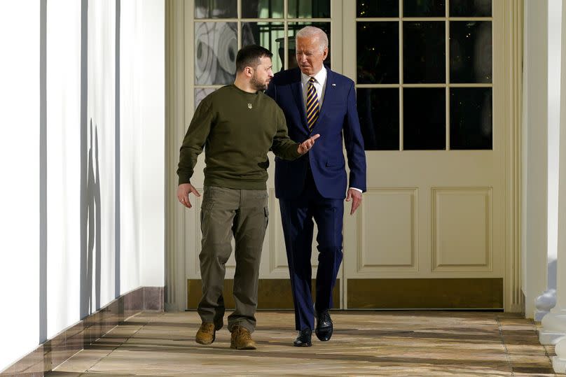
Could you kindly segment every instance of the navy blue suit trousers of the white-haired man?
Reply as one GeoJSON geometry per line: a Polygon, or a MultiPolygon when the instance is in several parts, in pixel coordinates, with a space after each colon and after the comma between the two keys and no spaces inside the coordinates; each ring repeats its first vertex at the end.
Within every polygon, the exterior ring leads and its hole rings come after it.
{"type": "Polygon", "coordinates": [[[322,197],[310,169],[303,193],[296,199],[279,199],[291,278],[297,330],[314,329],[315,310],[332,308],[332,291],[342,262],[343,199],[322,197]],[[315,308],[311,294],[311,253],[317,223],[318,268],[315,308]]]}

